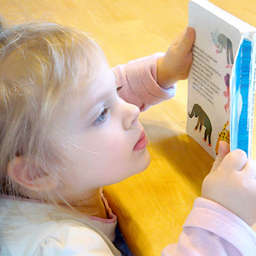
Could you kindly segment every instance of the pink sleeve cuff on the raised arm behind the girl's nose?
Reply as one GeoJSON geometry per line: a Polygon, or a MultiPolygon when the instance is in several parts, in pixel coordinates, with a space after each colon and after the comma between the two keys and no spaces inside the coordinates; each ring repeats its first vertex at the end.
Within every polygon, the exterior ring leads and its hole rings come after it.
{"type": "Polygon", "coordinates": [[[119,96],[125,102],[137,105],[144,111],[152,105],[171,99],[176,93],[176,84],[164,90],[157,84],[157,60],[162,53],[157,53],[125,65],[113,67],[117,77],[119,96]]]}

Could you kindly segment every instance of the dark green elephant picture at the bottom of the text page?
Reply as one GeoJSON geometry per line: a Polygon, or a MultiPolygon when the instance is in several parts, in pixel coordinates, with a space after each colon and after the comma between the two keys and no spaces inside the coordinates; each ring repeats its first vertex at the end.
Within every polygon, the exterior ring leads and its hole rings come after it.
{"type": "Polygon", "coordinates": [[[207,113],[203,111],[200,105],[195,104],[191,113],[189,113],[189,118],[191,119],[194,115],[196,118],[198,118],[197,125],[195,126],[195,131],[198,129],[200,125],[199,132],[201,132],[201,126],[204,125],[206,127],[206,131],[205,131],[205,137],[203,139],[206,142],[208,137],[208,145],[211,147],[212,146],[211,144],[212,124],[210,119],[207,116],[207,113]]]}

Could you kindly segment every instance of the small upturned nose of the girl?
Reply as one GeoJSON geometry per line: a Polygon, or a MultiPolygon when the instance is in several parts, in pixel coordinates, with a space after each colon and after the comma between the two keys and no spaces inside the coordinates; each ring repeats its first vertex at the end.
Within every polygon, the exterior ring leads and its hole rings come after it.
{"type": "Polygon", "coordinates": [[[132,128],[134,124],[137,123],[137,119],[140,114],[140,109],[131,103],[124,103],[124,111],[123,111],[123,125],[125,130],[129,130],[132,128]]]}

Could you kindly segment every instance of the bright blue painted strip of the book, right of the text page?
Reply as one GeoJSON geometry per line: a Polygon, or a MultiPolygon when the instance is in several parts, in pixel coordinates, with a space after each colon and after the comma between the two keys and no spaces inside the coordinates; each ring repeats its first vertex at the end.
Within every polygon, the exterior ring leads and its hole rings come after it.
{"type": "Polygon", "coordinates": [[[231,144],[230,150],[240,148],[251,155],[251,132],[252,132],[252,88],[251,82],[251,60],[252,41],[243,38],[238,51],[235,65],[235,83],[232,84],[234,90],[231,108],[231,144]]]}

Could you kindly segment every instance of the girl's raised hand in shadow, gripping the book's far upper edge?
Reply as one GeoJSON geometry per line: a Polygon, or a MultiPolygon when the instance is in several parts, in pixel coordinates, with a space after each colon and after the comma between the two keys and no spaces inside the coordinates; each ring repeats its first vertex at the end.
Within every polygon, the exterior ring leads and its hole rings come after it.
{"type": "Polygon", "coordinates": [[[193,60],[192,46],[195,30],[187,27],[170,45],[166,55],[157,62],[157,83],[164,89],[180,79],[187,79],[189,67],[193,60]]]}

